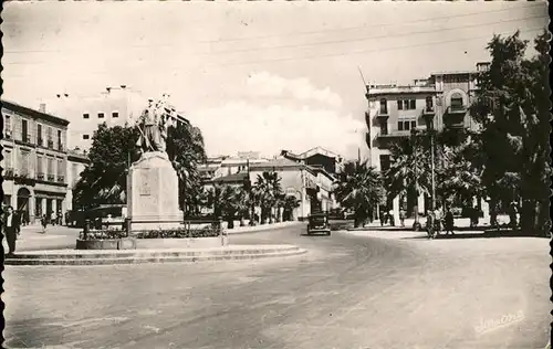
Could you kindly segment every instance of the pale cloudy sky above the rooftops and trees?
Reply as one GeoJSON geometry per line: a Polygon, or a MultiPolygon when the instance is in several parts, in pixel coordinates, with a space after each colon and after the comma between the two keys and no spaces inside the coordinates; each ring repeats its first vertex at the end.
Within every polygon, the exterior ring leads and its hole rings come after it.
{"type": "Polygon", "coordinates": [[[488,61],[493,34],[533,39],[545,2],[8,2],[3,98],[127,85],[169,93],[208,155],[364,149],[367,83],[488,61]],[[359,74],[359,71],[363,73],[359,74]]]}

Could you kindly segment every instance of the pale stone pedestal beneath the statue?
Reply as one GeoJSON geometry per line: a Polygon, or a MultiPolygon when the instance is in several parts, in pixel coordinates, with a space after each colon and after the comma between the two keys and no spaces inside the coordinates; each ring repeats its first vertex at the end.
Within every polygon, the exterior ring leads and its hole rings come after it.
{"type": "Polygon", "coordinates": [[[131,232],[181,228],[178,177],[167,154],[145,152],[127,177],[127,216],[131,232]]]}

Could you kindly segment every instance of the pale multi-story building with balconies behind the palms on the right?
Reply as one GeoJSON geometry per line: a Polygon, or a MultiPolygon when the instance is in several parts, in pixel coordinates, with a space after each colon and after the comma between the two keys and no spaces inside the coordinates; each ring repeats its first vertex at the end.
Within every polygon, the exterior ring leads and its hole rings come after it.
{"type": "MultiPolygon", "coordinates": [[[[469,106],[478,89],[478,73],[488,65],[478,63],[476,71],[434,73],[411,85],[368,85],[365,116],[371,163],[386,171],[394,160],[390,145],[409,137],[414,128],[426,129],[430,125],[437,131],[476,128],[478,125],[469,114],[469,106]]],[[[428,200],[424,195],[408,194],[406,202],[400,203],[399,198],[388,198],[388,208],[393,209],[397,221],[400,205],[409,214],[416,203],[425,211],[428,200]]]]}

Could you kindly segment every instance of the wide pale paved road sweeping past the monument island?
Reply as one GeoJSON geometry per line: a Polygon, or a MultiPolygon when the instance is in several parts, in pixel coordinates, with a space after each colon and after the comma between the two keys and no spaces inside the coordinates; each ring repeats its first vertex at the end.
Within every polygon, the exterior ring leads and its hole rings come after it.
{"type": "Polygon", "coordinates": [[[285,242],[310,250],[285,260],[8,267],[7,343],[545,347],[551,321],[547,240],[427,241],[394,232],[300,236],[301,230],[231,236],[238,244],[285,242]]]}

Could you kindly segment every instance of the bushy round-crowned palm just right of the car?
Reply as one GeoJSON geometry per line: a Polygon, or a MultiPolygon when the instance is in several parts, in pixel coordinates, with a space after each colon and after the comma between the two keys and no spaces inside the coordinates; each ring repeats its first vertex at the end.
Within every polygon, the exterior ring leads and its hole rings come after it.
{"type": "Polygon", "coordinates": [[[354,211],[355,228],[364,224],[385,198],[379,173],[366,161],[345,163],[335,193],[342,207],[354,211]]]}

